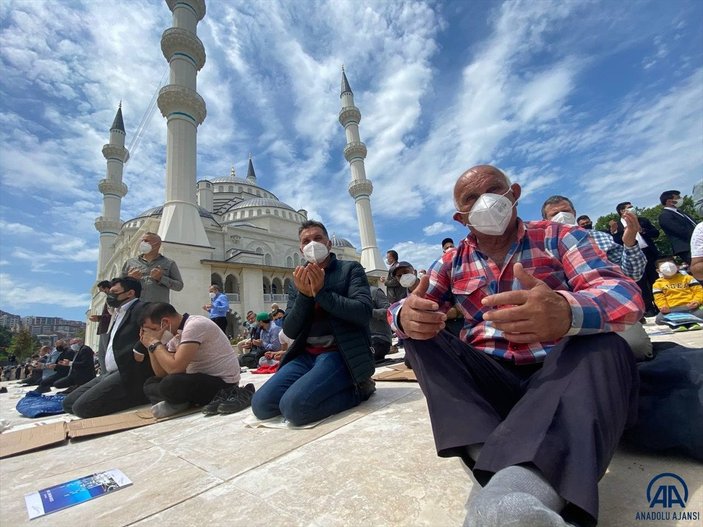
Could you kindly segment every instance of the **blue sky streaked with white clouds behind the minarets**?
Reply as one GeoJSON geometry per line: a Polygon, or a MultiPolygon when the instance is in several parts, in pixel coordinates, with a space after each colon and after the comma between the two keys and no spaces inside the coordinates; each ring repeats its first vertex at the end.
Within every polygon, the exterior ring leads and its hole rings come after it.
{"type": "MultiPolygon", "coordinates": [[[[246,174],[359,247],[340,109],[362,113],[378,244],[426,267],[456,178],[492,163],[593,218],[691,193],[703,174],[703,2],[210,1],[199,25],[198,178],[246,174]]],[[[163,203],[164,2],[0,3],[0,309],[82,319],[95,281],[102,145],[122,101],[127,220],[163,203]]]]}

